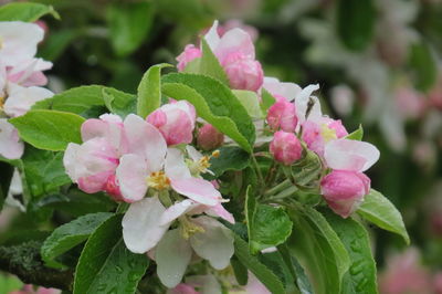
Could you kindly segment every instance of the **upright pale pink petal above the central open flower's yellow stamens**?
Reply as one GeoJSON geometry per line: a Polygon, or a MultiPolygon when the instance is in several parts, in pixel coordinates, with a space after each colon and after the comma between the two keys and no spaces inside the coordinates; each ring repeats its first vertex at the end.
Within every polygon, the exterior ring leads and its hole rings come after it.
{"type": "Polygon", "coordinates": [[[146,158],[149,174],[162,169],[167,144],[161,133],[134,114],[129,114],[126,117],[124,128],[129,144],[129,151],[146,158]]]}

